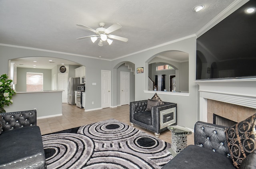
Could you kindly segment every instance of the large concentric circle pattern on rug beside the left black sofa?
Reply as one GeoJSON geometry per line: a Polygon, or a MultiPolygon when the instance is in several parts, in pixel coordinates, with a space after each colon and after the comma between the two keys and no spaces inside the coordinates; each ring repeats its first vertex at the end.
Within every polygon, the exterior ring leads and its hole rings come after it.
{"type": "Polygon", "coordinates": [[[60,133],[42,136],[48,169],[82,167],[90,159],[94,144],[87,136],[60,133]]]}

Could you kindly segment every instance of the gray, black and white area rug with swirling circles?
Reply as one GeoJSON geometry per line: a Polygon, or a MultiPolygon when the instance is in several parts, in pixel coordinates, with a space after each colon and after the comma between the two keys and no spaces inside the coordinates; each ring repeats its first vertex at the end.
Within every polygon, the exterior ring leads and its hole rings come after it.
{"type": "Polygon", "coordinates": [[[170,143],[110,119],[42,136],[48,169],[160,169],[170,143]]]}

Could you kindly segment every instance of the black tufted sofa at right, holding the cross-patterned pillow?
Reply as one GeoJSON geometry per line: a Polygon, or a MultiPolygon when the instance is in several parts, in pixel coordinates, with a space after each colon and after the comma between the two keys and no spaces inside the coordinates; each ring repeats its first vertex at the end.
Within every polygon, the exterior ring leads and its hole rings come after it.
{"type": "MultiPolygon", "coordinates": [[[[254,121],[255,122],[255,121],[254,121]]],[[[188,145],[162,169],[236,169],[230,157],[227,127],[196,122],[194,145],[188,145]]],[[[239,169],[256,169],[256,151],[248,155],[239,169]]]]}

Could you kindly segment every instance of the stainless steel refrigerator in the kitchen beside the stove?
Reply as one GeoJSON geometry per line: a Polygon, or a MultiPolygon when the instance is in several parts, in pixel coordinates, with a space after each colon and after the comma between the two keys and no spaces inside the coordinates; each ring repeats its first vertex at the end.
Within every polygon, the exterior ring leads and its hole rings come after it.
{"type": "Polygon", "coordinates": [[[75,105],[75,90],[80,85],[79,77],[70,77],[68,81],[68,104],[75,105]]]}

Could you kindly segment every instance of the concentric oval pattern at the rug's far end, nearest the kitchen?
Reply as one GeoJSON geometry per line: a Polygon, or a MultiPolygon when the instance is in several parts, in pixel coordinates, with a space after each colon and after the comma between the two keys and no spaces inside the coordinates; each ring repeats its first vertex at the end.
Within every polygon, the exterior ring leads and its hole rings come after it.
{"type": "Polygon", "coordinates": [[[127,138],[137,136],[140,131],[118,120],[105,120],[81,126],[78,134],[86,134],[98,141],[124,141],[127,138]]]}

